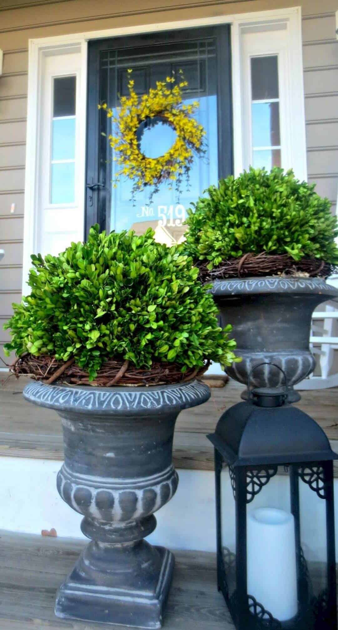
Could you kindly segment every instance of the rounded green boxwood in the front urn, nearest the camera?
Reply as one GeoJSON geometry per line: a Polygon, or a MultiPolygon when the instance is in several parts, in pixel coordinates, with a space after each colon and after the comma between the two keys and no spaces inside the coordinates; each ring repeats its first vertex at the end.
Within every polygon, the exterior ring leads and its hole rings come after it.
{"type": "Polygon", "coordinates": [[[48,354],[94,379],[108,358],[148,368],[175,362],[182,372],[206,359],[230,365],[235,341],[218,326],[217,307],[182,246],[154,232],[99,233],[59,256],[31,256],[31,292],[5,324],[7,353],[48,354]]]}

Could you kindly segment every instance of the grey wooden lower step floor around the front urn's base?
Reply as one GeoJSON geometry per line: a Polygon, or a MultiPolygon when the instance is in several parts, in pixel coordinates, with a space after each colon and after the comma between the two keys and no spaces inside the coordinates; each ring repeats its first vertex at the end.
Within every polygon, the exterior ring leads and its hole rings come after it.
{"type": "MultiPolygon", "coordinates": [[[[13,534],[0,530],[0,627],[101,630],[108,624],[62,621],[54,615],[55,593],[85,542],[13,534]]],[[[164,630],[234,630],[217,592],[215,554],[176,551],[174,580],[164,630]]],[[[125,626],[116,626],[123,630],[125,626]]]]}

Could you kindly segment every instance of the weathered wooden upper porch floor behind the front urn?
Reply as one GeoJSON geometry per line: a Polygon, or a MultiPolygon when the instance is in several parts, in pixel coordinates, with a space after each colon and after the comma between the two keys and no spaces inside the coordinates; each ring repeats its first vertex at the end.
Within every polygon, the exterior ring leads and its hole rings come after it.
{"type": "MultiPolygon", "coordinates": [[[[0,376],[0,456],[63,460],[62,430],[55,411],[27,403],[21,392],[28,379],[16,381],[0,376]]],[[[243,386],[229,381],[212,388],[208,403],[183,411],[174,437],[174,465],[177,468],[213,470],[213,447],[206,433],[213,432],[218,418],[240,401],[243,386]]],[[[320,423],[332,447],[338,447],[338,387],[300,392],[297,404],[320,423]]],[[[338,476],[338,464],[336,464],[338,476]]]]}

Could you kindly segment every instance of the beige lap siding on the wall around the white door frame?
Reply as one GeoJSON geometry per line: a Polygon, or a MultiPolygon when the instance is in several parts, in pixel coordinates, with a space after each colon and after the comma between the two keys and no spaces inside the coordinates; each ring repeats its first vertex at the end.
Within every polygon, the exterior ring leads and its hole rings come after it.
{"type": "MultiPolygon", "coordinates": [[[[28,39],[118,26],[186,20],[220,14],[298,6],[300,0],[0,0],[0,357],[8,334],[2,324],[19,301],[23,252],[23,190],[27,107],[28,39]],[[11,204],[15,212],[11,214],[11,204]]],[[[308,179],[320,195],[337,198],[338,43],[337,0],[303,0],[303,62],[308,179]]]]}

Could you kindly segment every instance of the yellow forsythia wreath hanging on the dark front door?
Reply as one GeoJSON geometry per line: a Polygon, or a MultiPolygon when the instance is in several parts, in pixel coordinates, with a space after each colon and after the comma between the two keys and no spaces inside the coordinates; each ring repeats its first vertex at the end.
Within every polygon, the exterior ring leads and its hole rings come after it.
{"type": "MultiPolygon", "coordinates": [[[[132,70],[128,70],[128,73],[131,75],[132,70]]],[[[106,103],[98,105],[116,126],[115,135],[108,136],[119,166],[114,185],[116,187],[116,181],[121,175],[134,180],[133,198],[145,186],[153,186],[154,194],[159,190],[159,185],[167,180],[176,181],[176,190],[180,192],[183,176],[189,178],[194,154],[205,154],[205,130],[193,118],[199,103],[183,103],[182,90],[187,85],[188,81],[184,80],[181,72],[179,83],[176,83],[174,76],[166,77],[166,81],[157,81],[156,88],[150,88],[148,94],[139,96],[135,93],[134,81],[130,77],[129,96],[121,96],[116,115],[106,103]],[[142,122],[155,117],[171,125],[177,137],[163,156],[152,158],[140,151],[137,132],[142,122]]]]}

